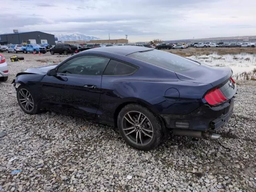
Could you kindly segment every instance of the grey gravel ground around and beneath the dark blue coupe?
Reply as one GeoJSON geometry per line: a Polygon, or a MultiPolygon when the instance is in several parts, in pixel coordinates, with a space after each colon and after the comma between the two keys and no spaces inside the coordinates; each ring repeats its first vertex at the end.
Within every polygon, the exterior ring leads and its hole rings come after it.
{"type": "Polygon", "coordinates": [[[171,136],[143,152],[112,126],[54,112],[24,114],[10,84],[16,73],[65,57],[20,55],[25,61],[8,62],[9,79],[0,83],[0,132],[7,133],[0,138],[0,191],[256,191],[256,81],[238,81],[238,124],[232,127],[231,118],[219,130],[222,146],[171,136]]]}

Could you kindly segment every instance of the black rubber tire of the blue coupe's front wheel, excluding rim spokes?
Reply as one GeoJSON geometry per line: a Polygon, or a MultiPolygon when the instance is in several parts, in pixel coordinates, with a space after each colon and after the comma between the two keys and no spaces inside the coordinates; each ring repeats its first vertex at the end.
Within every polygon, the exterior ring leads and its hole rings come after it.
{"type": "Polygon", "coordinates": [[[30,90],[30,88],[28,88],[27,86],[20,85],[18,87],[17,91],[16,91],[16,97],[17,97],[18,104],[19,104],[20,108],[26,114],[34,115],[34,114],[37,114],[40,111],[40,108],[39,108],[39,105],[38,105],[38,101],[37,101],[37,98],[36,98],[34,92],[32,92],[32,90],[30,90]],[[32,100],[30,99],[30,102],[31,101],[33,102],[33,107],[29,105],[29,107],[30,107],[29,109],[30,110],[26,110],[26,106],[24,106],[24,104],[21,103],[23,101],[20,100],[22,98],[21,94],[20,94],[20,90],[22,90],[23,92],[25,92],[25,90],[26,90],[26,91],[28,91],[30,93],[29,98],[32,98],[32,100]]]}

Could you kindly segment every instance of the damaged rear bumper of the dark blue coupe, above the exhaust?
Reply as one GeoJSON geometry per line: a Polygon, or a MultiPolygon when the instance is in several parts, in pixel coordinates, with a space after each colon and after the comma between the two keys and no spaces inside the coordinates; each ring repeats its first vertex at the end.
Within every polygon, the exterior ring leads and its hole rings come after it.
{"type": "Polygon", "coordinates": [[[233,113],[234,97],[220,106],[210,107],[204,105],[190,114],[169,115],[161,114],[167,128],[209,131],[217,130],[233,113]]]}

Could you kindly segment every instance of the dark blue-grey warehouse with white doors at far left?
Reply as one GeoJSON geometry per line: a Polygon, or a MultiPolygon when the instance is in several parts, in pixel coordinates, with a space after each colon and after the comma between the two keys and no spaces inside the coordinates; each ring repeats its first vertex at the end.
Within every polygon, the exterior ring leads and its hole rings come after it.
{"type": "Polygon", "coordinates": [[[40,31],[32,31],[32,32],[15,32],[9,34],[1,34],[0,35],[0,44],[22,44],[28,43],[30,41],[31,44],[41,44],[48,43],[50,45],[55,45],[54,35],[40,32],[40,31]]]}

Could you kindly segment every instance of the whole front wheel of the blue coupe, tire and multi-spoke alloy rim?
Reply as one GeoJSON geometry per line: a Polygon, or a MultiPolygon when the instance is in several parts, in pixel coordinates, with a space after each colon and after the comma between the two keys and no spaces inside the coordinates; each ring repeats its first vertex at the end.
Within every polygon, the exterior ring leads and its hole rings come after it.
{"type": "Polygon", "coordinates": [[[17,89],[17,100],[20,108],[26,114],[37,114],[38,103],[26,86],[19,86],[17,89]]]}

